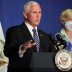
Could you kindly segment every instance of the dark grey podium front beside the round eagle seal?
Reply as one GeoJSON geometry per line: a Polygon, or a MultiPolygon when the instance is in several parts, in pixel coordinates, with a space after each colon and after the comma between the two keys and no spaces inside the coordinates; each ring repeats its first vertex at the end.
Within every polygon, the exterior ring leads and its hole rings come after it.
{"type": "Polygon", "coordinates": [[[39,52],[33,53],[31,58],[31,69],[33,72],[59,72],[55,66],[55,53],[39,52]]]}

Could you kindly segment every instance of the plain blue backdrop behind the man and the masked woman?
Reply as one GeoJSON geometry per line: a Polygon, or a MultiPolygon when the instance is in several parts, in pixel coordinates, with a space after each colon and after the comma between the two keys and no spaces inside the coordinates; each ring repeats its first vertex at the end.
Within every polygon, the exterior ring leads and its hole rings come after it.
{"type": "MultiPolygon", "coordinates": [[[[29,0],[0,0],[0,21],[4,35],[9,27],[21,24],[24,19],[22,8],[29,0]]],[[[72,8],[72,0],[34,0],[42,7],[39,28],[47,33],[57,33],[61,29],[59,16],[65,9],[72,8]]]]}

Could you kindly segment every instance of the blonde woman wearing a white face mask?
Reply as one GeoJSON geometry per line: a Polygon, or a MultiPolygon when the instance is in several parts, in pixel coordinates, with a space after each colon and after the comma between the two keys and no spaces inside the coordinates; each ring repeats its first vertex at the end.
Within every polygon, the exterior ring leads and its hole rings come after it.
{"type": "Polygon", "coordinates": [[[66,49],[72,51],[72,9],[64,10],[60,15],[60,21],[63,28],[59,34],[66,41],[66,49]]]}

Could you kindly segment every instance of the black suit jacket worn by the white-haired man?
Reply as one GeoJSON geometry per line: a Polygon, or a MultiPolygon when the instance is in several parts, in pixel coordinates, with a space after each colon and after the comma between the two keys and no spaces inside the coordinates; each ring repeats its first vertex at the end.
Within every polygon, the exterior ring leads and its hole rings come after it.
{"type": "MultiPolygon", "coordinates": [[[[48,35],[40,29],[38,29],[38,34],[40,37],[40,52],[50,52],[54,47],[48,35]]],[[[4,53],[9,58],[10,67],[26,67],[29,65],[32,52],[36,52],[36,46],[27,49],[23,58],[19,57],[18,51],[20,45],[30,39],[33,40],[24,23],[7,30],[4,53]]]]}

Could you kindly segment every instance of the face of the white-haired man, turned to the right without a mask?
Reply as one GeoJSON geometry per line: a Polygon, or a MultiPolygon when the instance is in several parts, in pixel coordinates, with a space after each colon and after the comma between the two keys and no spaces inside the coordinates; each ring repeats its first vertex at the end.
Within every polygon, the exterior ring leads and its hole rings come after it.
{"type": "Polygon", "coordinates": [[[26,14],[26,21],[33,27],[40,23],[41,19],[41,8],[39,5],[31,5],[30,11],[26,14]]]}

